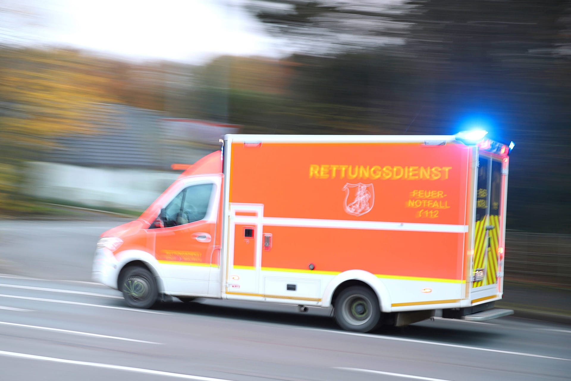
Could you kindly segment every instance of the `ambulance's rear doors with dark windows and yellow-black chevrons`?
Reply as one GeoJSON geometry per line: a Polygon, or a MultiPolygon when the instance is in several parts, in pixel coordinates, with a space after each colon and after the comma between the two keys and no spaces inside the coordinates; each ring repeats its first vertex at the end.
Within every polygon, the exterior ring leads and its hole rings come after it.
{"type": "Polygon", "coordinates": [[[474,291],[489,289],[490,295],[496,294],[498,278],[502,276],[500,256],[503,256],[504,247],[505,182],[507,180],[503,166],[502,158],[480,155],[476,190],[472,288],[474,291]]]}

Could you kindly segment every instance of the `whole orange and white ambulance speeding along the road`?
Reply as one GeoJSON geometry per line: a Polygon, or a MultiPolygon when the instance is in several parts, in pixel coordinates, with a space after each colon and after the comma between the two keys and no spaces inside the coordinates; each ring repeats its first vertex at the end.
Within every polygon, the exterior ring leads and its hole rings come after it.
{"type": "Polygon", "coordinates": [[[97,244],[130,307],[218,298],[332,308],[349,331],[489,320],[502,298],[509,154],[442,136],[239,135],[97,244]]]}

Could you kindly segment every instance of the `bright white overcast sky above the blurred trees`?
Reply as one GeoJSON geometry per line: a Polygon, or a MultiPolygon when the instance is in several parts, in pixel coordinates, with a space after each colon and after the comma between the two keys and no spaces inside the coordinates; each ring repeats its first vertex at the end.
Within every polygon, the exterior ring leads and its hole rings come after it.
{"type": "Polygon", "coordinates": [[[25,36],[136,59],[203,63],[219,54],[276,56],[260,23],[236,6],[240,1],[19,0],[16,6],[37,14],[41,25],[22,25],[10,16],[3,29],[12,40],[25,36]]]}

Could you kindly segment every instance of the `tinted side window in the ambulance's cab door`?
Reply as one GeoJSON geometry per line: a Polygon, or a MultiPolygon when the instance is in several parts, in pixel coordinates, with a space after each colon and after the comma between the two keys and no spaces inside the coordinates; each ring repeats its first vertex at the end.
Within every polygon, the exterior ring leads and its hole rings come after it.
{"type": "Polygon", "coordinates": [[[179,226],[204,219],[213,184],[186,187],[164,208],[164,226],[179,226]]]}

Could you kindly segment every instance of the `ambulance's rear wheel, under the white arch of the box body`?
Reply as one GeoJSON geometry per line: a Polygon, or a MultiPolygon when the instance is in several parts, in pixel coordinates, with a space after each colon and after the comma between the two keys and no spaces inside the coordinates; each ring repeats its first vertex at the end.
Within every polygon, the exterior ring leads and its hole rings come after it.
{"type": "Polygon", "coordinates": [[[345,331],[370,332],[381,321],[381,308],[375,292],[361,286],[341,291],[335,300],[335,320],[345,331]]]}

